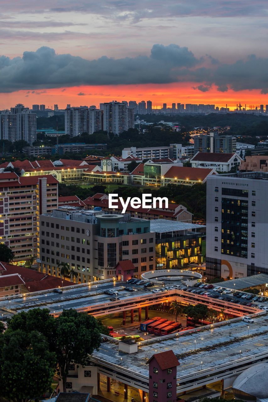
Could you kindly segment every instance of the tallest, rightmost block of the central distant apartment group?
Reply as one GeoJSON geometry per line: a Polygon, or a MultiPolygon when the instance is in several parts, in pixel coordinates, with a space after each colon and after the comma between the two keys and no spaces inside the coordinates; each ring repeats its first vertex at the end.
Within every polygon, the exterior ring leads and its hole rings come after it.
{"type": "Polygon", "coordinates": [[[124,103],[106,102],[103,104],[103,130],[119,135],[123,131],[134,128],[134,109],[124,103]]]}

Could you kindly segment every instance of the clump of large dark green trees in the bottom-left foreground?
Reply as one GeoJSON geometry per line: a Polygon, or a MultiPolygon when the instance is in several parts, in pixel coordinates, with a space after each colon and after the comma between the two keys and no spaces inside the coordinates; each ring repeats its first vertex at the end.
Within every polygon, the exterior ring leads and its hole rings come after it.
{"type": "Polygon", "coordinates": [[[86,365],[100,346],[101,333],[109,333],[101,322],[73,309],[58,318],[39,308],[16,314],[0,334],[1,396],[14,402],[39,398],[55,374],[66,392],[70,364],[86,365]]]}

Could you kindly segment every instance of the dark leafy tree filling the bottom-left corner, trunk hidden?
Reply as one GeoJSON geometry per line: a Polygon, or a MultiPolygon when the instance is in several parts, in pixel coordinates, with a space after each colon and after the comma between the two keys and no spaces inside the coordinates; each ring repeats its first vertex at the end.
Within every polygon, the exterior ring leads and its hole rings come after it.
{"type": "Polygon", "coordinates": [[[1,395],[27,402],[41,397],[51,386],[56,355],[37,331],[6,330],[0,335],[1,395]]]}

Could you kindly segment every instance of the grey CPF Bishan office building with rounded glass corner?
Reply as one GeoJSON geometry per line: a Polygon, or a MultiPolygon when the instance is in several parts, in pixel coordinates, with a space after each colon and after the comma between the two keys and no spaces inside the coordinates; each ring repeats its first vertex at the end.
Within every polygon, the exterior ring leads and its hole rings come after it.
{"type": "Polygon", "coordinates": [[[40,217],[39,270],[60,277],[60,264],[80,283],[115,277],[121,260],[132,260],[134,276],[155,269],[150,221],[103,211],[61,207],[40,217]]]}

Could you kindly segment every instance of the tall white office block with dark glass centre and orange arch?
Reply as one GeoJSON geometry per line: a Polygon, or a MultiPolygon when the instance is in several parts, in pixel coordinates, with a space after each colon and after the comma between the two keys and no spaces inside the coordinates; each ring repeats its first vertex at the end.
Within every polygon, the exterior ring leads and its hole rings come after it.
{"type": "Polygon", "coordinates": [[[268,272],[268,173],[208,176],[206,276],[268,272]]]}

